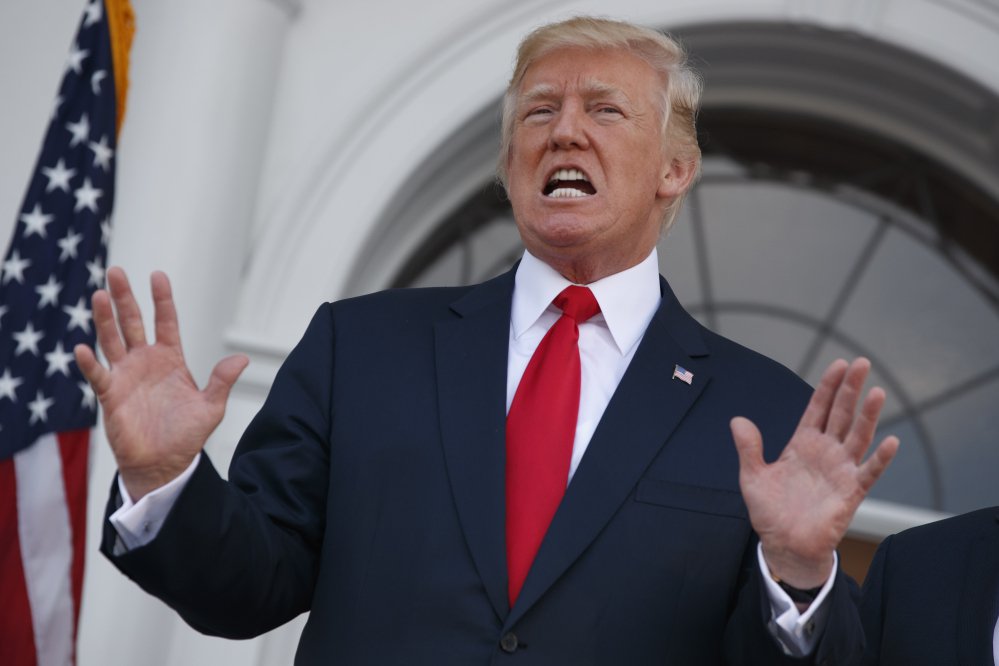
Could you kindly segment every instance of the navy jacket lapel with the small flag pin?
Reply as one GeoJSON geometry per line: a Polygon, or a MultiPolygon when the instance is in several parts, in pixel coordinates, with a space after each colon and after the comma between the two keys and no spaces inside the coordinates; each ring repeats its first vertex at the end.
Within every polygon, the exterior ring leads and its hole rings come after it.
{"type": "Polygon", "coordinates": [[[611,398],[507,618],[516,623],[596,538],[710,381],[699,326],[665,281],[663,302],[611,398]],[[687,385],[672,379],[679,363],[687,385]]]}

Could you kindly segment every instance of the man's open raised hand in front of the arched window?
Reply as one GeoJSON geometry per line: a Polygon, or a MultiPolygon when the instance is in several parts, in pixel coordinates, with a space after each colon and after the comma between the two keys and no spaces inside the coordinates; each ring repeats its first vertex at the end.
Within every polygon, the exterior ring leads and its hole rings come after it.
{"type": "Polygon", "coordinates": [[[763,460],[756,425],[732,419],[739,485],[753,529],[770,571],[794,587],[825,582],[853,514],[898,451],[898,438],[886,437],[864,460],[885,401],[884,391],[873,388],[857,413],[870,367],[864,358],[833,362],[771,464],[763,460]]]}

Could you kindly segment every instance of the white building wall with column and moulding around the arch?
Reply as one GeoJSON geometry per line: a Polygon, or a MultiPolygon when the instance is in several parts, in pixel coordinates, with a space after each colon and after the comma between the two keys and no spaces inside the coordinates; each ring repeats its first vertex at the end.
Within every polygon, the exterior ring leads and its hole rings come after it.
{"type": "MultiPolygon", "coordinates": [[[[3,238],[83,5],[0,3],[3,238]]],[[[315,306],[346,289],[359,249],[400,184],[499,96],[517,39],[535,25],[609,11],[662,26],[736,18],[814,23],[922,52],[999,90],[999,12],[973,0],[133,5],[138,31],[111,260],[140,291],[150,270],[170,273],[198,379],[224,353],[251,355],[209,446],[223,468],[277,363],[315,306]]],[[[80,664],[289,662],[297,625],[263,641],[201,637],[97,555],[112,474],[98,441],[80,664]]]]}

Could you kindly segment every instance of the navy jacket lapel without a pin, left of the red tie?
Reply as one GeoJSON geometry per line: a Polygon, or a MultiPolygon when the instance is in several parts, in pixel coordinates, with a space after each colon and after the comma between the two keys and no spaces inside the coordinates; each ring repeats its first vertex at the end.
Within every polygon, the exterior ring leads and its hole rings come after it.
{"type": "Polygon", "coordinates": [[[509,610],[504,466],[513,275],[475,287],[452,304],[455,318],[435,327],[448,477],[472,559],[501,620],[509,610]]]}

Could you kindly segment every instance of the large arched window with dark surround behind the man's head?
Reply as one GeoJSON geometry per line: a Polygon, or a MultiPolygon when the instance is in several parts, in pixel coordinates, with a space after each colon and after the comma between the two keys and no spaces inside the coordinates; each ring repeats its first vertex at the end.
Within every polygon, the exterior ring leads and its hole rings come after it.
{"type": "MultiPolygon", "coordinates": [[[[703,177],[660,243],[681,301],[811,382],[836,356],[871,358],[889,394],[881,430],[903,442],[873,497],[954,513],[996,503],[995,95],[848,34],[714,25],[683,37],[707,92],[703,177]]],[[[394,284],[481,281],[521,251],[502,190],[484,180],[394,284]]]]}

